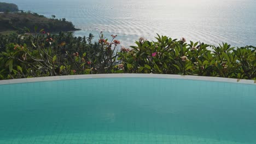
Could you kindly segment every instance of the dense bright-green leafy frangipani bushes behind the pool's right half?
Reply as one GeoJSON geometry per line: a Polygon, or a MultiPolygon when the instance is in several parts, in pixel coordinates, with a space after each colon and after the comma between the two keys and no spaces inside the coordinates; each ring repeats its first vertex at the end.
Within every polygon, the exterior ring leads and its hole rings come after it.
{"type": "Polygon", "coordinates": [[[119,59],[126,73],[182,74],[218,76],[238,79],[256,77],[255,47],[219,46],[166,36],[157,41],[140,38],[132,50],[121,53],[119,59]]]}

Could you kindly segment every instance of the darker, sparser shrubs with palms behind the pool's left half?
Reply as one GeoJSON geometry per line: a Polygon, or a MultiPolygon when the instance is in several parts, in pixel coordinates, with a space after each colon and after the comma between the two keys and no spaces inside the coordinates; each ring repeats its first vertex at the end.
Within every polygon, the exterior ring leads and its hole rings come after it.
{"type": "MultiPolygon", "coordinates": [[[[34,31],[37,30],[34,27],[34,31]]],[[[15,34],[0,34],[0,79],[115,73],[117,40],[113,38],[108,43],[101,33],[101,43],[88,44],[88,39],[93,37],[90,34],[89,38],[77,38],[72,33],[60,32],[59,35],[36,34],[21,39],[15,34]]]]}

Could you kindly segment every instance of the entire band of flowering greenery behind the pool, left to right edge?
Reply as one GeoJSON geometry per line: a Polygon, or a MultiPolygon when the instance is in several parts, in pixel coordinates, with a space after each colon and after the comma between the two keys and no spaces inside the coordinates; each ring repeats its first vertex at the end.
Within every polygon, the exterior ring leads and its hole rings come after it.
{"type": "MultiPolygon", "coordinates": [[[[38,31],[38,27],[34,27],[38,31]]],[[[255,47],[218,46],[171,39],[157,35],[156,41],[140,38],[130,49],[120,47],[112,35],[100,33],[74,37],[72,33],[20,37],[0,34],[0,79],[24,77],[153,73],[229,77],[256,80],[255,47]]]]}

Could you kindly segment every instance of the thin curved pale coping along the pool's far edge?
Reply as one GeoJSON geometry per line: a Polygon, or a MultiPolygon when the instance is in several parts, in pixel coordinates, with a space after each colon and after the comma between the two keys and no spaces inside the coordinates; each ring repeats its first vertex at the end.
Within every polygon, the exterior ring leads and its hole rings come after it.
{"type": "Polygon", "coordinates": [[[40,82],[40,81],[59,81],[59,80],[76,80],[76,79],[100,79],[100,78],[157,78],[157,79],[183,79],[183,80],[200,80],[200,81],[217,81],[230,83],[243,83],[256,86],[256,80],[229,79],[223,77],[209,76],[192,76],[192,75],[167,75],[167,74],[94,74],[94,75],[65,75],[34,77],[27,79],[0,80],[0,85],[14,83],[40,82]]]}

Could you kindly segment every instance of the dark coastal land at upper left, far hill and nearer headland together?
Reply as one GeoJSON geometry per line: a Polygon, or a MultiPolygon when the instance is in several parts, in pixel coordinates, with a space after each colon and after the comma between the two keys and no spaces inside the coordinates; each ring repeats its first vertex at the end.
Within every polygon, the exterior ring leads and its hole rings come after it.
{"type": "Polygon", "coordinates": [[[74,32],[81,29],[75,28],[73,23],[66,21],[65,18],[55,19],[55,15],[48,18],[44,15],[24,12],[19,10],[18,5],[13,3],[0,2],[0,33],[18,34],[33,33],[44,29],[45,32],[74,32]]]}

